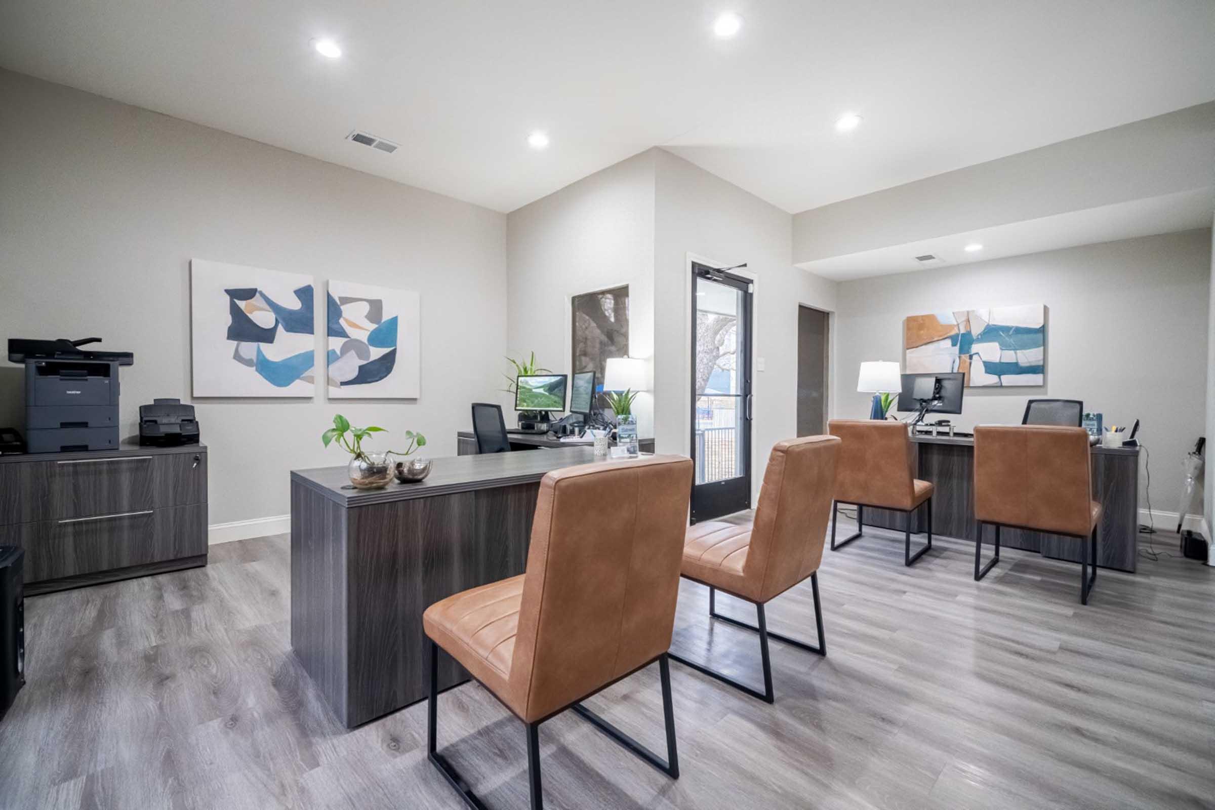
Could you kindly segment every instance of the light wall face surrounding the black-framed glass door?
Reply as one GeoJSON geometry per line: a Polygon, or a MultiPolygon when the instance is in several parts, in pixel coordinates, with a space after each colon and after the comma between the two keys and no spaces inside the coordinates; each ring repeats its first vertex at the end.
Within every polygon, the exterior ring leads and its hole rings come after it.
{"type": "Polygon", "coordinates": [[[758,492],[772,446],[797,435],[797,308],[835,311],[837,284],[792,266],[789,214],[669,152],[654,154],[657,451],[689,452],[688,256],[718,267],[747,262],[747,272],[756,278],[755,357],[764,364],[753,384],[752,481],[758,492]]]}

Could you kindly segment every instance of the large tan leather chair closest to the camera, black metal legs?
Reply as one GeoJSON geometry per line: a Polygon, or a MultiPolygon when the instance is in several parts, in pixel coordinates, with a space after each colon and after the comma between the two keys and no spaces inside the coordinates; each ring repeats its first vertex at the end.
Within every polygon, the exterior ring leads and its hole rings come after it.
{"type": "Polygon", "coordinates": [[[679,777],[667,650],[691,480],[691,459],[676,455],[549,472],[536,499],[527,572],[426,608],[429,757],[469,806],[484,805],[436,749],[439,647],[524,721],[533,810],[543,806],[539,725],[570,707],[679,777]],[[667,761],[580,704],[655,661],[667,761]]]}

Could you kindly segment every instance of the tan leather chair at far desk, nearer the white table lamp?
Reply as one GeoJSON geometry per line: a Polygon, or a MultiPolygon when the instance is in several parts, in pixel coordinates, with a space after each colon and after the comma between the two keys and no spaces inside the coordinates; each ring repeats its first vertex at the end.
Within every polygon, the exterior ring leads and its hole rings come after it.
{"type": "Polygon", "coordinates": [[[838,551],[861,536],[865,506],[893,509],[906,514],[903,565],[911,565],[932,549],[933,485],[915,477],[915,453],[908,426],[876,419],[832,419],[827,431],[843,440],[831,506],[831,550],[838,551]],[[840,504],[857,506],[857,532],[836,543],[840,504]],[[911,515],[921,505],[928,511],[928,543],[911,554],[911,515]]]}

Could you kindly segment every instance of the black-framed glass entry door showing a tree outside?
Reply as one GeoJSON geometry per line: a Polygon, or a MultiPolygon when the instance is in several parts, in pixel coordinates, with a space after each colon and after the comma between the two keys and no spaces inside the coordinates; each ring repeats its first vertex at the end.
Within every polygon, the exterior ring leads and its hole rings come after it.
{"type": "Polygon", "coordinates": [[[693,262],[691,522],[751,508],[751,282],[693,262]]]}

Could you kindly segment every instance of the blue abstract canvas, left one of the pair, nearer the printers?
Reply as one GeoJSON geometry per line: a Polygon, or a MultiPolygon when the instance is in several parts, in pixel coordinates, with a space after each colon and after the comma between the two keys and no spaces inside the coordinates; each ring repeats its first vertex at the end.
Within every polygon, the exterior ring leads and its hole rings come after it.
{"type": "Polygon", "coordinates": [[[190,291],[196,397],[315,393],[310,276],[194,259],[190,291]]]}

